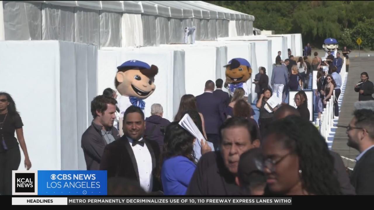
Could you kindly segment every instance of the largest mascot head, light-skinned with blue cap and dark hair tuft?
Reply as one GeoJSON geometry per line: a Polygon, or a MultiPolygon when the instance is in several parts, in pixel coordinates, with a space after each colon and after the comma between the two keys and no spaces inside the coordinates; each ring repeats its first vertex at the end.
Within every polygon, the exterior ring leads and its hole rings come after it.
{"type": "Polygon", "coordinates": [[[159,69],[155,65],[149,66],[142,61],[130,60],[117,69],[114,85],[121,95],[146,99],[156,89],[154,76],[159,69]]]}

